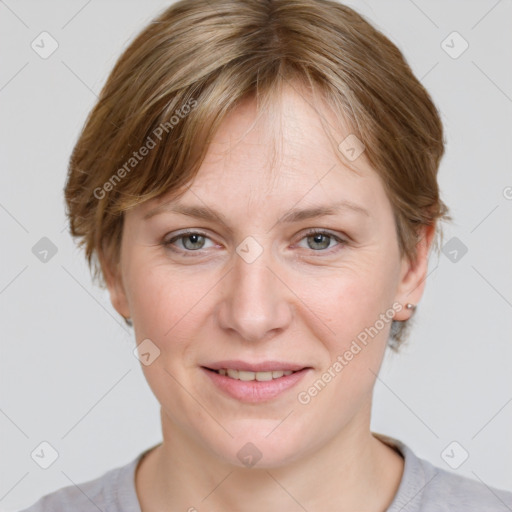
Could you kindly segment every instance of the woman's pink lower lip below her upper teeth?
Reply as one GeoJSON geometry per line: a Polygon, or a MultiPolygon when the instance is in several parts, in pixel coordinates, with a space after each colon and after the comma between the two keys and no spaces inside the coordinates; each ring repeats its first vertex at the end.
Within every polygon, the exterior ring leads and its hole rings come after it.
{"type": "MultiPolygon", "coordinates": [[[[263,364],[263,363],[262,363],[263,364]]],[[[238,370],[245,370],[245,368],[241,368],[240,366],[220,366],[219,368],[236,368],[238,370]]],[[[252,365],[254,368],[254,365],[252,365]]],[[[311,367],[303,368],[298,370],[292,370],[295,373],[290,375],[283,375],[278,379],[273,379],[269,381],[243,381],[232,379],[227,375],[220,375],[211,369],[208,369],[204,366],[201,367],[201,371],[205,373],[211,382],[222,391],[224,394],[239,400],[240,402],[245,403],[261,403],[272,400],[279,395],[285,393],[285,391],[290,390],[294,387],[302,378],[312,370],[311,367]]],[[[275,368],[278,369],[278,368],[275,368]]],[[[281,369],[285,369],[281,366],[281,369]]],[[[291,369],[291,368],[290,368],[291,369]]],[[[255,371],[255,370],[247,370],[247,371],[255,371]]],[[[265,371],[265,370],[256,370],[256,371],[265,371]]],[[[270,370],[266,370],[270,371],[270,370]]]]}

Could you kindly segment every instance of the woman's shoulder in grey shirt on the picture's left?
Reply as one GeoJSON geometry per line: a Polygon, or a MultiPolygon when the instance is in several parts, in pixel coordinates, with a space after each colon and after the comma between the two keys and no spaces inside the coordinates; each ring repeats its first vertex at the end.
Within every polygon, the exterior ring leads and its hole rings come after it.
{"type": "Polygon", "coordinates": [[[46,494],[20,512],[66,512],[69,510],[140,512],[134,476],[137,463],[145,453],[139,454],[128,464],[111,469],[93,480],[62,487],[46,494]]]}

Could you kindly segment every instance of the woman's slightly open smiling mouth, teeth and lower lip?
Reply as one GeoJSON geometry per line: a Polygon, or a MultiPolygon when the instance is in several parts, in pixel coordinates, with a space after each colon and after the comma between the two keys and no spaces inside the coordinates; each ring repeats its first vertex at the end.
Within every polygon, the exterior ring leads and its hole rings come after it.
{"type": "MultiPolygon", "coordinates": [[[[201,366],[213,388],[223,395],[244,403],[262,403],[285,396],[302,378],[312,371],[311,367],[295,369],[276,367],[268,370],[247,370],[231,365],[217,365],[218,368],[201,366]]],[[[247,367],[247,365],[245,365],[247,367]]]]}

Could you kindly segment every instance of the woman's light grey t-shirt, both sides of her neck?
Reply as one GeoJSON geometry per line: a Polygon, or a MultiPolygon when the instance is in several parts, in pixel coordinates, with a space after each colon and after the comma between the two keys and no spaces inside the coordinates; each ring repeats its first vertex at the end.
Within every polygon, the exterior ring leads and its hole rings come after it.
{"type": "MultiPolygon", "coordinates": [[[[489,487],[420,459],[401,441],[373,433],[404,457],[404,473],[386,512],[511,512],[512,492],[489,487]]],[[[141,512],[135,468],[151,448],[102,476],[43,496],[21,512],[141,512]]]]}

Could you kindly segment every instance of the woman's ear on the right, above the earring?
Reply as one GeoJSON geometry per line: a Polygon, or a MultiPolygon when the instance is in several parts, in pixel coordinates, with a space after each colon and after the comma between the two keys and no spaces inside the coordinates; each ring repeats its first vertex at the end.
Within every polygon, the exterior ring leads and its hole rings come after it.
{"type": "Polygon", "coordinates": [[[434,235],[435,223],[430,226],[421,226],[418,230],[418,242],[416,243],[416,261],[411,261],[404,256],[400,271],[400,282],[398,284],[395,301],[402,304],[403,309],[395,314],[394,320],[408,320],[411,313],[406,309],[406,304],[418,304],[425,288],[428,272],[428,257],[434,235]]]}

